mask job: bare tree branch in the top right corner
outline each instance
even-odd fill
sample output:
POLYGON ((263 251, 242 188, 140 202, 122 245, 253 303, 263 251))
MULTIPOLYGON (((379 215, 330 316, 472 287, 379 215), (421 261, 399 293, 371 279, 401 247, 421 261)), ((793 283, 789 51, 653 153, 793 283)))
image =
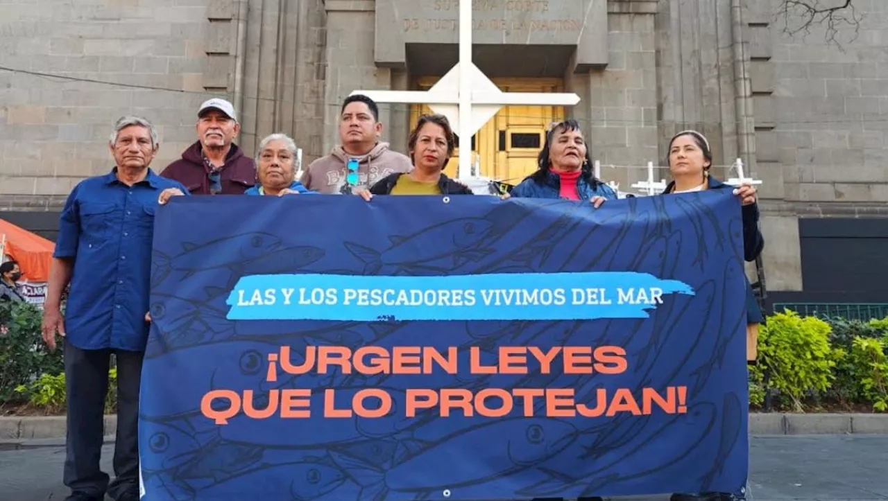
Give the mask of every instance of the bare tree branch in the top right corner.
POLYGON ((853 42, 860 34, 863 19, 863 14, 855 10, 853 0, 830 0, 829 5, 823 5, 822 0, 781 0, 778 15, 783 18, 783 32, 787 35, 804 33, 804 37, 811 33, 811 27, 820 25, 826 30, 827 43, 840 50, 842 46, 836 40, 840 28, 843 25, 853 28, 853 42))

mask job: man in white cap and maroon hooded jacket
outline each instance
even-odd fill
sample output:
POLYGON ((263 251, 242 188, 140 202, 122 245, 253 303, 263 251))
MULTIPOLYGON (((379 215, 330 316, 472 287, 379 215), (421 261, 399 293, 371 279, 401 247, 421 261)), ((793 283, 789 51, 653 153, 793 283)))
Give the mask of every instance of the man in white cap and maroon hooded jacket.
POLYGON ((256 184, 256 163, 233 143, 240 130, 231 103, 204 101, 197 110, 197 142, 161 176, 185 184, 193 195, 243 194, 256 184))

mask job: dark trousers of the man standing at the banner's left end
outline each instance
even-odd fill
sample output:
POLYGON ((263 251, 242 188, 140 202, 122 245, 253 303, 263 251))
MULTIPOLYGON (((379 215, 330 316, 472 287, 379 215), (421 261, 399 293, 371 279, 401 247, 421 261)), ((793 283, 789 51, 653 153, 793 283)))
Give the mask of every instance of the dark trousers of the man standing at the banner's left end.
POLYGON ((80 349, 65 343, 67 447, 65 485, 71 499, 139 496, 139 383, 144 352, 114 351, 117 359, 115 480, 101 471, 105 397, 112 350, 80 349))

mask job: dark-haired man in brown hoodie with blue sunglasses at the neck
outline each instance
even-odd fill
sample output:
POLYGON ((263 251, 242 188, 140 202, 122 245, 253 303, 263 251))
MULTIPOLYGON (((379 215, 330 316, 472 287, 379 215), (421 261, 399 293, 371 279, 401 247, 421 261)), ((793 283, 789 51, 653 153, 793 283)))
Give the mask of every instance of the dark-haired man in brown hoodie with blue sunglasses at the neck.
POLYGON ((379 141, 382 131, 379 107, 373 99, 361 94, 349 96, 339 118, 342 145, 314 160, 300 181, 315 192, 348 193, 354 188, 369 188, 395 172, 409 172, 413 165, 407 155, 392 152, 388 143, 379 141))

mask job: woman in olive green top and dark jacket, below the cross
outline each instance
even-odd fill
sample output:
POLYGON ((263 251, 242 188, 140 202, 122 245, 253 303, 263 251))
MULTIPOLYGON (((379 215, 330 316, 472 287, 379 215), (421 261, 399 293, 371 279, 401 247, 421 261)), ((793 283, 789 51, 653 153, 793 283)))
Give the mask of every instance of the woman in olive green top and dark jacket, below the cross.
POLYGON ((413 170, 385 176, 369 190, 355 190, 369 201, 373 195, 472 195, 472 190, 450 179, 443 172, 456 139, 447 117, 440 114, 423 115, 416 121, 407 142, 413 170))

